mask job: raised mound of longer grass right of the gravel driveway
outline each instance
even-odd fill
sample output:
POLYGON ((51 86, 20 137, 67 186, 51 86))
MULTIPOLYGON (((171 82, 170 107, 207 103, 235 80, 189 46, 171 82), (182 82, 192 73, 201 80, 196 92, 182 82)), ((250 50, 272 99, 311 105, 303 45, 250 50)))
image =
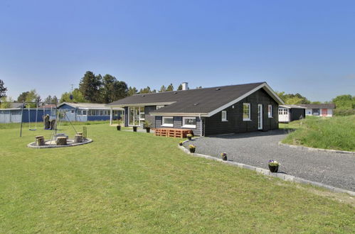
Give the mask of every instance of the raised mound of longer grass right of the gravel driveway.
POLYGON ((297 128, 282 143, 329 150, 355 151, 355 116, 308 117, 280 126, 297 128), (301 124, 302 123, 302 124, 301 124))

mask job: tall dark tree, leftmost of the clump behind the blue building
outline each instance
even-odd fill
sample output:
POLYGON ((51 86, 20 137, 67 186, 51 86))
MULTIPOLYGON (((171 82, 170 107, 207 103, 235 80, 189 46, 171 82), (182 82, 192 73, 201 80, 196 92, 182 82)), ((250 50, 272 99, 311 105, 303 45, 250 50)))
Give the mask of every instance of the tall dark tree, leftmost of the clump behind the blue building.
POLYGON ((100 87, 102 86, 102 76, 95 75, 93 72, 85 72, 84 77, 80 79, 79 90, 85 100, 92 103, 100 103, 100 87))

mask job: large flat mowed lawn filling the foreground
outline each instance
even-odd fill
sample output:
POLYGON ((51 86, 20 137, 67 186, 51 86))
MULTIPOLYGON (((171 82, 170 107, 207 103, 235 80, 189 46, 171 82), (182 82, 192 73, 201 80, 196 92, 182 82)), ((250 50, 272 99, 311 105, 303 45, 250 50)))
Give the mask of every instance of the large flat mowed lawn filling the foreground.
POLYGON ((355 232, 353 205, 191 157, 179 139, 105 124, 88 145, 26 147, 50 134, 0 130, 0 233, 355 232))

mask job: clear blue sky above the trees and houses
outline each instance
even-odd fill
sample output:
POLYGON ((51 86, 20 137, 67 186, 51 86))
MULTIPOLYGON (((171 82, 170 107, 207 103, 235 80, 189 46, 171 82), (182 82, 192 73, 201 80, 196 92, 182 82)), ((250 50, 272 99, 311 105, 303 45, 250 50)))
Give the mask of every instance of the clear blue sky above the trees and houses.
POLYGON ((60 97, 85 71, 129 86, 266 81, 355 95, 355 1, 0 0, 0 79, 60 97))

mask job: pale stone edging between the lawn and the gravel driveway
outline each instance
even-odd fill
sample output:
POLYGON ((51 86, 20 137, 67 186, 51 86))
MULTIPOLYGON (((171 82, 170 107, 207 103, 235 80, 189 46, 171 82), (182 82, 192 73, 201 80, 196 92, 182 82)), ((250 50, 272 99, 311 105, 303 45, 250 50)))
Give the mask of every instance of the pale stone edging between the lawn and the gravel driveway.
MULTIPOLYGON (((188 141, 189 140, 185 140, 184 143, 186 143, 188 141)), ((263 169, 263 168, 260 168, 260 167, 254 167, 254 166, 250 166, 250 165, 245 165, 243 163, 231 162, 231 161, 223 161, 223 160, 221 160, 221 159, 219 159, 217 157, 212 157, 212 156, 209 156, 209 155, 191 153, 188 149, 186 149, 186 147, 184 147, 184 145, 183 146, 178 145, 178 147, 181 150, 183 150, 184 152, 186 152, 188 155, 192 155, 192 156, 195 156, 195 157, 203 157, 203 158, 206 158, 208 160, 214 160, 214 161, 222 162, 222 163, 234 166, 234 167, 250 169, 250 170, 255 171, 255 172, 259 173, 259 174, 263 174, 263 175, 266 175, 266 176, 269 176, 269 177, 277 177, 277 178, 283 179, 283 180, 285 180, 287 182, 295 182, 295 183, 300 183, 300 184, 310 184, 310 185, 322 187, 324 189, 328 189, 330 191, 334 191, 334 192, 337 192, 337 193, 346 193, 346 194, 349 194, 351 196, 355 196, 355 191, 346 190, 346 189, 340 189, 340 188, 337 188, 337 187, 334 187, 334 186, 330 186, 330 185, 327 185, 327 184, 322 184, 322 183, 319 183, 319 182, 312 182, 310 180, 302 179, 300 177, 294 177, 294 176, 292 176, 290 174, 277 173, 277 172, 276 173, 272 173, 268 169, 263 169)))

